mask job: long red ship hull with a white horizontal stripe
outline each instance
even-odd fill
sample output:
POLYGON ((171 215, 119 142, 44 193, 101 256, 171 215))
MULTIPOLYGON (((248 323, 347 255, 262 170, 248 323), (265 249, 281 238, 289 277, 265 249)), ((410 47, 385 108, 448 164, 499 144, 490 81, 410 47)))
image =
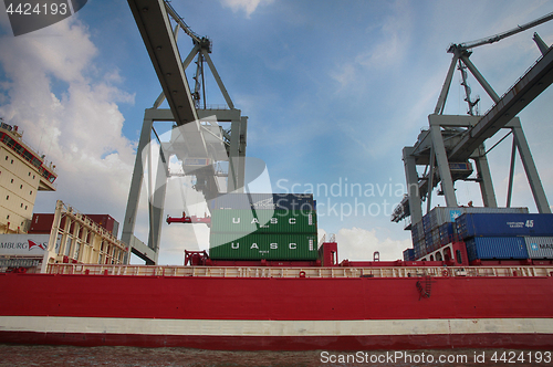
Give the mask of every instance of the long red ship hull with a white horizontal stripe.
POLYGON ((552 276, 0 274, 0 343, 205 349, 551 348, 552 276))

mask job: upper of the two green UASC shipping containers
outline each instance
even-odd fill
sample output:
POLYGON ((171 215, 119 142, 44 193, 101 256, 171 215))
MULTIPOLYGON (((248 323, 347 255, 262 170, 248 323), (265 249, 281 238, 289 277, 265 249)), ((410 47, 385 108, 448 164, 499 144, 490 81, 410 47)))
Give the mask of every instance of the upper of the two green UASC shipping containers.
POLYGON ((231 210, 211 211, 212 232, 242 233, 316 233, 316 212, 300 210, 231 210))

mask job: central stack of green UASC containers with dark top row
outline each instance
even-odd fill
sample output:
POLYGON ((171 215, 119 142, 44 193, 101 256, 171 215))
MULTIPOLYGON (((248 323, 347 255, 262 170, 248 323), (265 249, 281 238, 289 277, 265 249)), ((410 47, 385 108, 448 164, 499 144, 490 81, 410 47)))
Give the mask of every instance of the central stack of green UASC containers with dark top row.
POLYGON ((213 260, 316 260, 313 195, 228 193, 209 202, 213 260))

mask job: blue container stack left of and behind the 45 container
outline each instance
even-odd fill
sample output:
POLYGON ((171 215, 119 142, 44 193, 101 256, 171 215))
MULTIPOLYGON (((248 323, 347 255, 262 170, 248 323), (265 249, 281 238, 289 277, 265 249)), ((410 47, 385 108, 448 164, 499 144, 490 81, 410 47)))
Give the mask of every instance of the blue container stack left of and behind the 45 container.
POLYGON ((524 214, 528 208, 436 207, 411 224, 415 258, 420 259, 458 239, 456 219, 465 213, 524 214))

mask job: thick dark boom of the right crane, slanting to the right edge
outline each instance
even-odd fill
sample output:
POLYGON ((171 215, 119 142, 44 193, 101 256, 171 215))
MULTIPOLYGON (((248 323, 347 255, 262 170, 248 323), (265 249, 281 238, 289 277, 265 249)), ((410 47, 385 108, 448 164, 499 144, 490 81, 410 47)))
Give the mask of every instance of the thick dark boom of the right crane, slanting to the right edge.
POLYGON ((504 127, 518 113, 553 83, 553 52, 550 50, 470 128, 449 154, 450 159, 470 157, 486 139, 504 127))

